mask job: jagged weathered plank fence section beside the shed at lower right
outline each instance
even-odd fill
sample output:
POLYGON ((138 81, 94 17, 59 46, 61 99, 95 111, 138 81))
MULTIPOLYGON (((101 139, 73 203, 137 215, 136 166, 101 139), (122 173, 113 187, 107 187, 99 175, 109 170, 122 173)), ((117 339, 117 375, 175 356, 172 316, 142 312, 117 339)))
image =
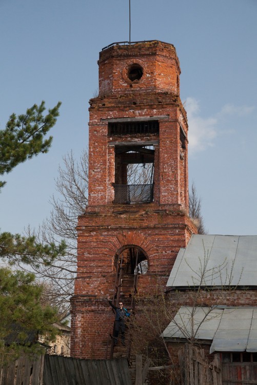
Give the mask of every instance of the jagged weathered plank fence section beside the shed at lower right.
POLYGON ((204 350, 186 344, 179 352, 183 385, 222 385, 222 371, 219 354, 210 362, 204 350))

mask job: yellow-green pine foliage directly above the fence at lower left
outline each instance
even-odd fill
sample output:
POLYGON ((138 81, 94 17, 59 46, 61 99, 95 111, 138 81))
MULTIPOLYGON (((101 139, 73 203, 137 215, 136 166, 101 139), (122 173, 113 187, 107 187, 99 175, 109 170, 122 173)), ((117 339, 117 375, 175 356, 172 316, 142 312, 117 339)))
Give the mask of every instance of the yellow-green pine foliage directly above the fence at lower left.
POLYGON ((55 338, 57 311, 42 305, 42 291, 32 273, 0 268, 0 354, 6 360, 21 353, 42 353, 36 342, 39 335, 45 344, 55 338))

